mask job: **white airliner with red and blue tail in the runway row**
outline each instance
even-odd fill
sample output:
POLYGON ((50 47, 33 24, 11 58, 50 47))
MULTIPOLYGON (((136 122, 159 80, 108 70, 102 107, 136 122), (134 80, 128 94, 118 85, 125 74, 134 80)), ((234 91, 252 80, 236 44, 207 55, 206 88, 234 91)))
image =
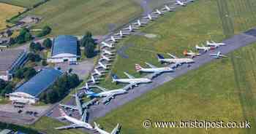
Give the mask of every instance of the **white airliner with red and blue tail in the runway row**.
POLYGON ((173 71, 173 68, 169 67, 162 67, 157 68, 157 66, 151 65, 150 63, 146 63, 150 68, 143 68, 139 64, 135 64, 135 70, 139 73, 146 72, 146 73, 154 73, 153 76, 157 76, 159 74, 162 74, 164 72, 173 71))

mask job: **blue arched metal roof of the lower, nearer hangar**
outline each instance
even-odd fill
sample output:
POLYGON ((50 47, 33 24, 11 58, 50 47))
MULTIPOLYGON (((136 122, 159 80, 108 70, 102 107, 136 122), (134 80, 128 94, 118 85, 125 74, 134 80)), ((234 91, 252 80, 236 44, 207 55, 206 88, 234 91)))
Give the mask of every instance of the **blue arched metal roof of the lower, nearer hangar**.
POLYGON ((37 97, 41 92, 56 81, 63 73, 55 68, 43 68, 36 76, 29 79, 28 82, 20 85, 15 92, 24 92, 37 97))

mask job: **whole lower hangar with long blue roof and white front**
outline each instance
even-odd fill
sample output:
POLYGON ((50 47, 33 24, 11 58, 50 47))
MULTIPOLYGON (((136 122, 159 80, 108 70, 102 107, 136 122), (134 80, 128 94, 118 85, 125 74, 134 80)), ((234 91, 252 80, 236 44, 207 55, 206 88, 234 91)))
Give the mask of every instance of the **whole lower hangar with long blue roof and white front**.
POLYGON ((62 74, 62 71, 55 68, 43 68, 28 82, 17 87, 15 92, 10 93, 10 101, 12 103, 37 103, 39 95, 56 82, 62 74))

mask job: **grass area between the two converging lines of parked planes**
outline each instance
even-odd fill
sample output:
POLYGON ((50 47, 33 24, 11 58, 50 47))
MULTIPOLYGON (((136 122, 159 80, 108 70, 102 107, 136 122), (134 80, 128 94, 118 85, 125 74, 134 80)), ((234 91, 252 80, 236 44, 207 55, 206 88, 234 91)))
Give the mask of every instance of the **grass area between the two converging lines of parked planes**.
MULTIPOLYGON (((250 0, 255 1, 255 0, 250 0)), ((140 31, 142 33, 153 33, 157 38, 148 39, 145 36, 132 36, 124 39, 118 44, 118 48, 130 46, 125 50, 129 58, 117 56, 113 63, 112 72, 118 76, 125 77, 123 72, 127 71, 134 76, 140 76, 135 72, 135 63, 145 66, 144 62, 161 66, 158 63, 156 54, 170 52, 178 57, 183 57, 184 50, 195 51, 195 45, 205 43, 206 40, 213 39, 222 41, 226 37, 232 36, 241 31, 246 31, 256 25, 255 10, 249 10, 249 7, 238 7, 239 4, 245 4, 244 1, 232 0, 227 2, 227 8, 230 13, 232 25, 226 23, 222 15, 226 16, 226 11, 219 7, 218 1, 196 1, 187 7, 178 9, 176 12, 170 12, 165 17, 150 23, 140 31), (202 13, 203 12, 203 13, 202 13), (230 28, 227 29, 226 25, 230 28), (126 65, 126 66, 123 66, 126 65)), ((168 57, 168 55, 165 55, 168 57)), ((110 76, 101 82, 106 87, 116 87, 111 82, 110 76)))

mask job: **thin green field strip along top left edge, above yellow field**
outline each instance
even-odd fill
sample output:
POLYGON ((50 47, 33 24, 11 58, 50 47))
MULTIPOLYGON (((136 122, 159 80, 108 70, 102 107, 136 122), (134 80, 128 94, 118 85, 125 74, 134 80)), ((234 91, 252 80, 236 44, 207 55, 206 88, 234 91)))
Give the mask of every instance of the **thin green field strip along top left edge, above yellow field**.
POLYGON ((12 4, 20 7, 32 7, 34 4, 37 4, 42 0, 0 0, 7 4, 12 4))

